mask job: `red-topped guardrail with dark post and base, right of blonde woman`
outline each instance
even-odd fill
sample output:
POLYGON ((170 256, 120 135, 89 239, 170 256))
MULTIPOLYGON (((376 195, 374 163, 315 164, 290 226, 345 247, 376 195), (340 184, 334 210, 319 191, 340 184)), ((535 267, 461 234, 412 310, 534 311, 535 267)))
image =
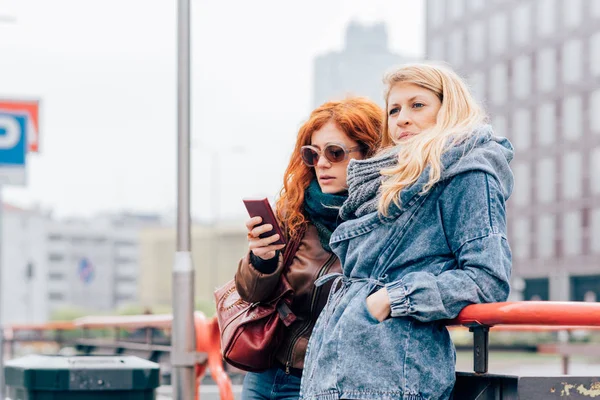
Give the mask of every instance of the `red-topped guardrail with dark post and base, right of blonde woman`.
MULTIPOLYGON (((473 332, 475 372, 457 372, 455 398, 546 400, 600 396, 600 377, 597 376, 521 377, 488 373, 490 329, 535 329, 536 331, 598 329, 600 303, 522 301, 476 304, 465 307, 456 319, 448 322, 448 325, 461 325, 473 332)), ((574 348, 564 346, 550 350, 562 352, 563 370, 566 370, 568 358, 565 357, 570 354, 569 351, 574 351, 574 348)))

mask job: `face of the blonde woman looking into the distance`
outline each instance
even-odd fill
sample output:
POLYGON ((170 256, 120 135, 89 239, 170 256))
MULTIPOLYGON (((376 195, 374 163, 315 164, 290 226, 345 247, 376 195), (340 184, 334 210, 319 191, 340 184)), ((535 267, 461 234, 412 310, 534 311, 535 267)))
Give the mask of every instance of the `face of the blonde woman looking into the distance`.
POLYGON ((397 83, 388 96, 388 126, 394 142, 435 126, 442 107, 438 96, 429 89, 413 83, 397 83))

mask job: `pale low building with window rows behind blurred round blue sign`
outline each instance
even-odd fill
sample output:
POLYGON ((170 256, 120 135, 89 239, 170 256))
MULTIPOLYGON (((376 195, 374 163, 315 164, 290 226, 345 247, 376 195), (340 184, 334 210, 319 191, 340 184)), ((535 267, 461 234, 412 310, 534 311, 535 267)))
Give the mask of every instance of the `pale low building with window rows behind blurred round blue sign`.
POLYGON ((111 311, 138 300, 138 231, 109 221, 47 222, 50 313, 111 311))

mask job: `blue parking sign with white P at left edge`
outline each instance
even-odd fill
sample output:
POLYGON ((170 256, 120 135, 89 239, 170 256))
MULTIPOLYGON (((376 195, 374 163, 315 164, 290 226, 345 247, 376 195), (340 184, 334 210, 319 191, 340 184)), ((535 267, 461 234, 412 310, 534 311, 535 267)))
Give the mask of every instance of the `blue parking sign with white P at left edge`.
POLYGON ((0 111, 0 185, 25 185, 26 115, 0 111))

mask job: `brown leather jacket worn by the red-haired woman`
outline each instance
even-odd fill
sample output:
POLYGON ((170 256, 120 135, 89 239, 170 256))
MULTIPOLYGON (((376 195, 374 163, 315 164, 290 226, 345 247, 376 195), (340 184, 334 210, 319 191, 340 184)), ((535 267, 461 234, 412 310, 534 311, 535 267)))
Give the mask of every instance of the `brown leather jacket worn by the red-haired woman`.
POLYGON ((315 281, 331 272, 341 272, 341 269, 339 259, 321 246, 317 229, 310 224, 292 263, 285 271, 281 255, 277 269, 272 274, 256 270, 250 263, 250 254, 240 261, 235 286, 244 300, 254 303, 267 299, 277 286, 281 273, 285 274, 294 289, 291 308, 298 319, 286 328, 287 334, 276 354, 277 360, 286 368, 304 367, 308 338, 327 302, 331 282, 316 287, 315 281))

